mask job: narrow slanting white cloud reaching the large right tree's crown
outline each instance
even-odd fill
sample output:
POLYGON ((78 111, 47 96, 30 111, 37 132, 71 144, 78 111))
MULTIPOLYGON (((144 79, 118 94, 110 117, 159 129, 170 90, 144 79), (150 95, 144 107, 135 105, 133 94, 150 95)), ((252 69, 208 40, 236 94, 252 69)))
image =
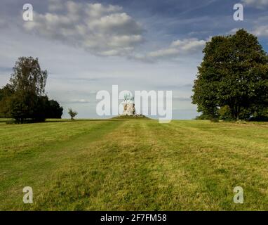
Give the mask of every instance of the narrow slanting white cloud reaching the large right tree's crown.
POLYGON ((139 60, 154 61, 159 59, 178 58, 180 56, 189 56, 201 52, 208 40, 199 40, 197 38, 178 39, 173 41, 166 49, 150 51, 146 55, 135 56, 139 60))

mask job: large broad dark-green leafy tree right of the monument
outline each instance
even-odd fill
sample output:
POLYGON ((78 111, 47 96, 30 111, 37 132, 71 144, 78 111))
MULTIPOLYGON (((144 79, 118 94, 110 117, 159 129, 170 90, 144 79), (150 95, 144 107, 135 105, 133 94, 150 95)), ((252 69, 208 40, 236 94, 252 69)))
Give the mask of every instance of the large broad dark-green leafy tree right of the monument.
POLYGON ((203 53, 192 96, 199 112, 215 118, 227 105, 239 120, 253 117, 256 105, 267 108, 268 56, 257 37, 245 30, 213 37, 203 53))

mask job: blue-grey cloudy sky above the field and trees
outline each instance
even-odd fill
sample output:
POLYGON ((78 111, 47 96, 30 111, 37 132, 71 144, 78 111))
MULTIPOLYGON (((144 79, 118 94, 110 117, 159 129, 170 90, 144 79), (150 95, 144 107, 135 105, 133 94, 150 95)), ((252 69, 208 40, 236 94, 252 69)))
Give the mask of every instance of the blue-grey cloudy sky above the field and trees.
POLYGON ((46 94, 79 118, 98 118, 96 93, 173 91, 173 119, 199 115, 192 86, 202 49, 241 28, 268 51, 268 0, 1 0, 0 87, 21 56, 48 70, 46 94), (22 18, 32 4, 33 21, 22 18), (234 4, 243 5, 235 21, 234 4))

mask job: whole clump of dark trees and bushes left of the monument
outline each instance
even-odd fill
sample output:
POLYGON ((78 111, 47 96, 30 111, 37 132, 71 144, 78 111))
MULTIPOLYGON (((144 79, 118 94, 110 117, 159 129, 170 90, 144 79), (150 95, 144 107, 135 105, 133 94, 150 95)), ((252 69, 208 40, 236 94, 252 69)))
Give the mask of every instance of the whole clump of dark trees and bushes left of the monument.
POLYGON ((61 118, 63 108, 45 94, 46 79, 47 71, 41 70, 38 58, 19 58, 10 83, 0 89, 0 117, 21 123, 61 118))

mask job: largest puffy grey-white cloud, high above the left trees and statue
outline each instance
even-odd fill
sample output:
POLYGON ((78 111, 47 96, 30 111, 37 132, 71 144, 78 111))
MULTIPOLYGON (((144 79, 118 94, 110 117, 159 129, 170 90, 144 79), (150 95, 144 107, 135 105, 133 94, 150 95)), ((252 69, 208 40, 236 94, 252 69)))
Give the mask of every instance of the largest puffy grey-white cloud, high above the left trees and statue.
POLYGON ((34 12, 24 29, 98 56, 127 56, 144 41, 142 25, 120 6, 74 1, 50 0, 48 12, 34 12))

